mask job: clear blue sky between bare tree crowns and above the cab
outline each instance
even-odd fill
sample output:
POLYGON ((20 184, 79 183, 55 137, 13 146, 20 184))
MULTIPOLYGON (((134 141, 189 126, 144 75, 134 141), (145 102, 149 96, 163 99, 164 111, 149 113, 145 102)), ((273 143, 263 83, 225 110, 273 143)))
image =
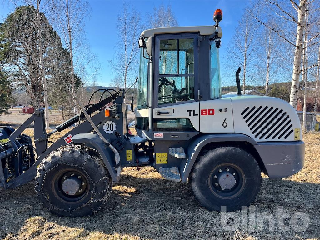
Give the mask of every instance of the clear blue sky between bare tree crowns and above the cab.
MULTIPOLYGON (((212 15, 215 9, 223 11, 223 20, 220 22, 223 37, 220 48, 220 58, 225 55, 228 42, 234 33, 238 20, 243 14, 244 7, 248 1, 226 0, 226 1, 130 1, 131 4, 143 15, 152 12, 153 7, 171 4, 172 10, 178 20, 179 26, 213 25, 212 15)), ((108 86, 113 78, 112 70, 108 60, 114 57, 116 44, 116 19, 121 11, 123 1, 89 0, 92 8, 91 18, 86 24, 86 38, 102 65, 101 76, 98 84, 108 86)), ((13 4, 0 5, 0 20, 2 21, 8 13, 14 10, 13 4)), ((143 20, 147 21, 146 17, 143 20)), ((138 45, 138 44, 137 44, 138 45)), ((221 61, 221 59, 220 59, 221 61)), ((221 76, 224 72, 221 68, 221 76)))

